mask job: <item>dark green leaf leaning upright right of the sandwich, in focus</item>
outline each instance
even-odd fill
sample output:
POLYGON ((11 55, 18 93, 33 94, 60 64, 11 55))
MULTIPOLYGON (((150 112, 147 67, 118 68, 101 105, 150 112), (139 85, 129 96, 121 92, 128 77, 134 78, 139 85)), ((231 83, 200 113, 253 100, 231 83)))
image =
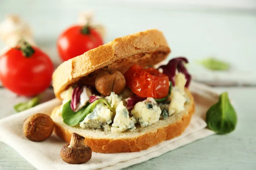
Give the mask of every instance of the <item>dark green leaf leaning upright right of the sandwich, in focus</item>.
POLYGON ((230 104, 227 92, 220 95, 219 101, 209 108, 206 115, 209 129, 216 133, 230 133, 236 128, 236 111, 230 104))

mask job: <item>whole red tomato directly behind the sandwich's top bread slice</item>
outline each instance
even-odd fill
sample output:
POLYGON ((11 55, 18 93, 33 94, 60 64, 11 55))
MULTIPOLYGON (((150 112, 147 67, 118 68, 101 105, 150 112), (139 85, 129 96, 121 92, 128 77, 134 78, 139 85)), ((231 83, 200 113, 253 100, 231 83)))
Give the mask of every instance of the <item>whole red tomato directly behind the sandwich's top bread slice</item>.
POLYGON ((100 34, 95 29, 73 26, 58 37, 58 53, 63 61, 84 54, 84 52, 103 45, 100 34))

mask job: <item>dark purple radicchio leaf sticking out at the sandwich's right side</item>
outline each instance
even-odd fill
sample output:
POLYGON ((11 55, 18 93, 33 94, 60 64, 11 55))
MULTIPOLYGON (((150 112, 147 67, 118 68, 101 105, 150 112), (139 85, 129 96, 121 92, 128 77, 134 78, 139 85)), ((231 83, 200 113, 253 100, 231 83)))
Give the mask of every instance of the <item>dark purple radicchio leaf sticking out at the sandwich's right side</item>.
POLYGON ((172 81, 172 85, 175 86, 175 74, 176 69, 178 72, 183 73, 186 77, 186 85, 185 87, 189 87, 190 81, 191 81, 191 75, 186 70, 186 67, 183 65, 183 63, 188 63, 188 60, 185 57, 177 57, 174 59, 171 59, 167 65, 161 65, 159 68, 163 69, 163 74, 166 74, 169 77, 169 80, 172 81))

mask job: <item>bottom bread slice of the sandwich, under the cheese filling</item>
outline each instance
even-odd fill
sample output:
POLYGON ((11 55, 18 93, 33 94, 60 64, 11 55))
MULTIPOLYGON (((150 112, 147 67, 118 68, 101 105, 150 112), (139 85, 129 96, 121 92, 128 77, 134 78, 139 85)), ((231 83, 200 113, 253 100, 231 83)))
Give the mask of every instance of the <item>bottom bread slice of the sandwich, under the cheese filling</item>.
POLYGON ((138 125, 135 132, 112 133, 100 129, 82 129, 79 126, 70 127, 64 124, 61 115, 56 113, 58 107, 51 114, 51 118, 55 122, 54 131, 67 143, 70 143, 72 133, 84 136, 84 144, 90 146, 93 152, 121 153, 145 150, 160 142, 180 136, 189 125, 195 112, 195 104, 190 91, 188 89, 185 90, 186 98, 189 101, 185 103, 185 111, 173 114, 168 119, 161 119, 147 127, 138 125))

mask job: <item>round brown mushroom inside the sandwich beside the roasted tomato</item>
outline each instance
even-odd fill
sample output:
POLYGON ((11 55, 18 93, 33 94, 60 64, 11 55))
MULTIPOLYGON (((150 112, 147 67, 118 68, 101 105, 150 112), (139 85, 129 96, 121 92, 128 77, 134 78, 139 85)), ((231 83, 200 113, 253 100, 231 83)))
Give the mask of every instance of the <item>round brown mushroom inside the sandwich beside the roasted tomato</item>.
POLYGON ((95 80, 97 91, 104 96, 109 96, 111 92, 121 94, 125 89, 125 77, 120 71, 102 71, 95 80))

